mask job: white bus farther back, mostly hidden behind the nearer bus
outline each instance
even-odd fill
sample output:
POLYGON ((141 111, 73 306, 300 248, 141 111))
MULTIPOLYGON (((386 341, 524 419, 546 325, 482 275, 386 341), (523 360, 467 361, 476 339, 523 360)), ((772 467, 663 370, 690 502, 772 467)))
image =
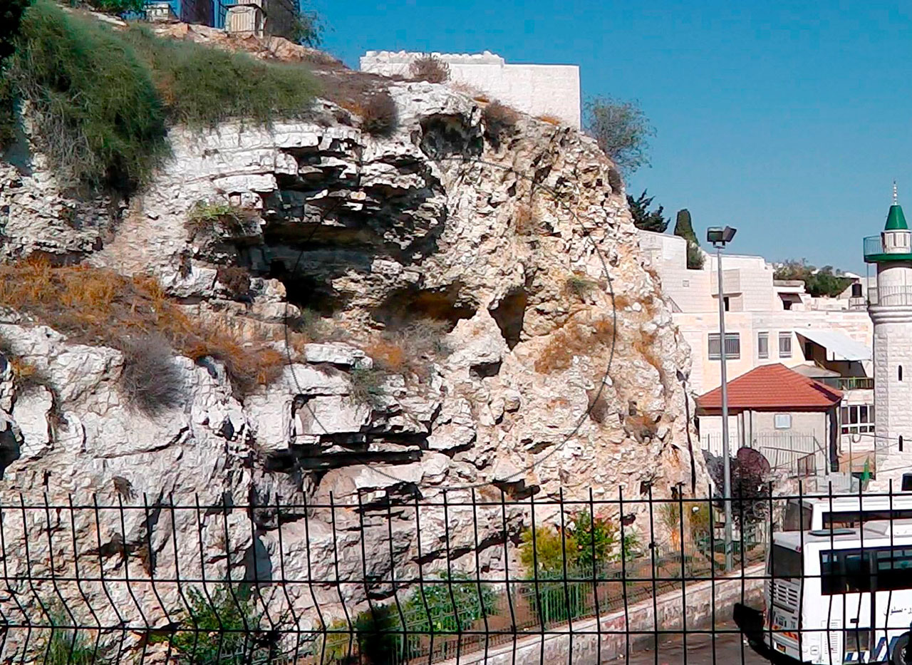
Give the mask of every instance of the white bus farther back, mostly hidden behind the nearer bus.
POLYGON ((889 519, 912 519, 912 494, 793 497, 785 504, 782 531, 853 528, 889 519))

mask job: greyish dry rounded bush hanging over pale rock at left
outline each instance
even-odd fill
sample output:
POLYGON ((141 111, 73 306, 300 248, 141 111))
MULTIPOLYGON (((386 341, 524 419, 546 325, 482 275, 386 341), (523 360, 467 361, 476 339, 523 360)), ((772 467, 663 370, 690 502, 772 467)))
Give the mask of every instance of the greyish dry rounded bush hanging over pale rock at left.
POLYGON ((122 343, 120 383, 130 401, 151 416, 175 409, 186 400, 181 370, 174 364, 171 345, 160 335, 126 339, 122 343))

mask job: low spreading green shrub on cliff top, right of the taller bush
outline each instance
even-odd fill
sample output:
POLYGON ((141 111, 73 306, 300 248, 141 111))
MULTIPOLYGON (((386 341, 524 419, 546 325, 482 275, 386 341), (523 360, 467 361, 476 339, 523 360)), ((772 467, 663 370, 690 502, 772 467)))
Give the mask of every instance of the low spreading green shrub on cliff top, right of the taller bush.
POLYGON ((171 119, 192 127, 232 118, 262 124, 300 118, 316 94, 315 78, 300 64, 163 39, 140 26, 131 26, 124 39, 151 68, 171 119))

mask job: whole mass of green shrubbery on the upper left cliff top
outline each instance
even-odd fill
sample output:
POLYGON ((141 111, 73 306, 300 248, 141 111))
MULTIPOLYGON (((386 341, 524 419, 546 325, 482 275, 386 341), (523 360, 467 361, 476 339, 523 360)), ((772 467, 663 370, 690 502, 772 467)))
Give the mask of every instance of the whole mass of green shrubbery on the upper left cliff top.
MULTIPOLYGON (((117 30, 37 0, 22 16, 0 98, 26 99, 61 182, 129 193, 168 154, 168 122, 268 123, 305 114, 316 82, 300 65, 117 30)), ((9 106, 7 104, 6 106, 9 106)))

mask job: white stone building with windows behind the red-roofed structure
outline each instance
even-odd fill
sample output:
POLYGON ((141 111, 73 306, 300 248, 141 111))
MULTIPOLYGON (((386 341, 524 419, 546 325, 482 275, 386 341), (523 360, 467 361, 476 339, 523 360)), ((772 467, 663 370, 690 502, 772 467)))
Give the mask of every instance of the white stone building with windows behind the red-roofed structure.
MULTIPOLYGON (((873 326, 865 308, 856 307, 849 298, 809 296, 800 281, 773 279, 773 266, 762 256, 723 255, 720 289, 714 254, 705 254, 703 267, 691 270, 687 267, 687 241, 684 238, 647 231, 638 233, 643 255, 658 273, 662 291, 671 302, 672 316, 691 348, 693 366, 689 389, 699 395, 721 383, 721 290, 726 309, 725 350, 729 380, 762 365, 781 363, 842 390, 837 454, 846 462, 860 459, 857 463, 863 463, 864 456, 859 458, 855 453, 874 448, 876 413, 873 390, 876 379, 873 378, 871 351, 873 326), (849 308, 850 302, 852 308, 849 308)), ((909 284, 912 285, 912 279, 909 284)), ((716 425, 704 426, 707 424, 701 423, 701 441, 719 438, 716 425)), ((730 428, 738 431, 738 423, 731 420, 730 428)), ((783 436, 802 434, 798 429, 800 421, 780 428, 783 436)), ((912 436, 912 429, 909 436, 912 436)))

